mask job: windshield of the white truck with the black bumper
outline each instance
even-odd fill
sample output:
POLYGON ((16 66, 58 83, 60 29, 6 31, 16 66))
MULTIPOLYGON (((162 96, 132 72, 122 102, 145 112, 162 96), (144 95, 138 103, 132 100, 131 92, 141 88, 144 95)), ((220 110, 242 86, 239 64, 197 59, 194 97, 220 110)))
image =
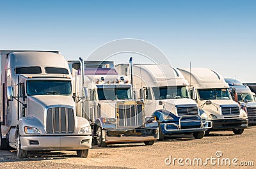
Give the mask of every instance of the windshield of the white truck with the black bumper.
POLYGON ((198 89, 199 99, 231 99, 228 89, 198 89))

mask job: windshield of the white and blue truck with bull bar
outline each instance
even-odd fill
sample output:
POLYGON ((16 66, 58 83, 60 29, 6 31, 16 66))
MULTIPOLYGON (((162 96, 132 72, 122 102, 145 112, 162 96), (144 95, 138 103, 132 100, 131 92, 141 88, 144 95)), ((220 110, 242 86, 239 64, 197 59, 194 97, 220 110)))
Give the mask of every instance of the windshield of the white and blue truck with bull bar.
POLYGON ((189 98, 188 90, 185 86, 178 87, 152 87, 155 99, 179 99, 189 98))

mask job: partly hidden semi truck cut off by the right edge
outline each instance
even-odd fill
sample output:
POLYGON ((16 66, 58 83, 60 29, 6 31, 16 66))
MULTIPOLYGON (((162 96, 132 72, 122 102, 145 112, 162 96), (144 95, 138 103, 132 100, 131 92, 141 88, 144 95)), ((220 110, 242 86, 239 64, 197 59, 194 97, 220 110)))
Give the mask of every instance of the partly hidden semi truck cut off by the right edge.
POLYGON ((248 115, 249 125, 256 125, 256 99, 255 93, 247 85, 234 78, 225 78, 230 87, 230 94, 234 101, 238 102, 248 115))

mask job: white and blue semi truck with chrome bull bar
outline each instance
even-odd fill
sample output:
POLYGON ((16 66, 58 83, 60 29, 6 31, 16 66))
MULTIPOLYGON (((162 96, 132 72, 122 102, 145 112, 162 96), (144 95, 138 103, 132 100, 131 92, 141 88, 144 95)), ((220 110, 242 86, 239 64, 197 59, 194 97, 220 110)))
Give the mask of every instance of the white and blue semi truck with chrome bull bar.
POLYGON ((176 68, 165 64, 117 64, 123 75, 133 74, 138 98, 145 101, 145 114, 156 117, 159 140, 168 135, 193 133, 197 139, 211 128, 204 111, 189 98, 188 81, 176 68))

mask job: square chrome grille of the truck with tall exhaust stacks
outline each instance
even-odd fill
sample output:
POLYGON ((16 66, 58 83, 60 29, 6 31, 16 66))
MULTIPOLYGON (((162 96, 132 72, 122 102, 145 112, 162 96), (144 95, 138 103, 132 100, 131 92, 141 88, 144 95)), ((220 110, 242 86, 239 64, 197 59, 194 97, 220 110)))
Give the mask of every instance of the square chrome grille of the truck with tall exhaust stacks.
POLYGON ((138 128, 145 122, 143 104, 118 104, 117 128, 138 128))

